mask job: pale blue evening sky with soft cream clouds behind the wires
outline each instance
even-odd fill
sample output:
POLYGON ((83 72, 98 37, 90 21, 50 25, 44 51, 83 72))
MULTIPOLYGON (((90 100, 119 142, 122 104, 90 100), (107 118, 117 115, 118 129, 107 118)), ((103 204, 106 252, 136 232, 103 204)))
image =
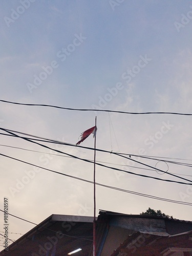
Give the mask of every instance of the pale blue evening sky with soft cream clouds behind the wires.
MULTIPOLYGON (((191 185, 164 181, 191 184, 191 116, 93 111, 192 113, 191 1, 2 0, 0 14, 0 100, 92 110, 0 101, 0 127, 75 145, 97 116, 96 148, 109 153, 96 161, 120 170, 96 165, 96 182, 192 203, 191 185)), ((93 150, 42 142, 49 150, 1 133, 0 209, 7 198, 10 214, 36 224, 52 214, 93 216, 93 184, 6 157, 93 181, 93 163, 54 151, 93 161, 93 150)), ((93 148, 93 136, 80 145, 93 148)), ((96 186, 96 215, 148 207, 192 221, 191 205, 96 186)), ((8 222, 13 241, 34 227, 8 222)))

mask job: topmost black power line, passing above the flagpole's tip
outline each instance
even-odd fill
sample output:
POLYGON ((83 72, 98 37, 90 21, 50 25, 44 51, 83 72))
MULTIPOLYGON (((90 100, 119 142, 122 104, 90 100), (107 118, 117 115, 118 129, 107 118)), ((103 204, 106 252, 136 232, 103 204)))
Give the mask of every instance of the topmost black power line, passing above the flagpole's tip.
POLYGON ((7 100, 0 100, 5 103, 25 105, 25 106, 49 106, 50 108, 63 109, 63 110, 73 110, 73 111, 98 111, 98 112, 112 112, 112 113, 121 113, 121 114, 132 114, 132 115, 143 115, 143 114, 172 114, 172 115, 184 115, 192 116, 192 114, 187 113, 177 113, 177 112, 124 112, 124 111, 113 111, 113 110, 98 110, 98 109, 73 109, 73 108, 63 108, 61 106, 48 105, 48 104, 29 104, 29 103, 18 103, 7 100))

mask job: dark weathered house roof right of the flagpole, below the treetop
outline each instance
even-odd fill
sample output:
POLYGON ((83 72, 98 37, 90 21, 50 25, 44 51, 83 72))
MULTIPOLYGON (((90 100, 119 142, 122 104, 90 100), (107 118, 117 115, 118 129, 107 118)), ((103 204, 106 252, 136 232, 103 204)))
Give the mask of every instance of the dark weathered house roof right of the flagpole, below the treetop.
POLYGON ((108 235, 100 249, 101 256, 156 256, 192 252, 190 221, 152 215, 125 215, 103 210, 99 214, 98 222, 109 224, 108 235))

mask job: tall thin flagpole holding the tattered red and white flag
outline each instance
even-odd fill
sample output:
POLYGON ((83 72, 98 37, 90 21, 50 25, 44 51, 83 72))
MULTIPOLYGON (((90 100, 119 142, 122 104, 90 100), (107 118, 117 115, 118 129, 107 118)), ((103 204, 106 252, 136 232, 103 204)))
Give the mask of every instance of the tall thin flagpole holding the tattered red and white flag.
MULTIPOLYGON (((95 117, 95 129, 97 129, 97 117, 95 117)), ((95 132, 95 146, 94 146, 94 219, 93 219, 93 256, 96 256, 96 196, 95 196, 95 158, 96 158, 96 132, 95 132)))

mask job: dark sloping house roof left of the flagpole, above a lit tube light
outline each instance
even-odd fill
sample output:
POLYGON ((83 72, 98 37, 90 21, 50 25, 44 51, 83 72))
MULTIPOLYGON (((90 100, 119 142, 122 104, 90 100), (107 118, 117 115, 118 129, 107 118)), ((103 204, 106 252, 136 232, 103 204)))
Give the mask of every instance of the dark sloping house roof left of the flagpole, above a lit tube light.
POLYGON ((93 217, 51 215, 36 227, 16 240, 0 255, 27 256, 45 255, 46 250, 54 251, 56 255, 67 255, 81 247, 79 256, 88 255, 93 244, 93 217), (86 254, 84 254, 86 253, 86 254))

